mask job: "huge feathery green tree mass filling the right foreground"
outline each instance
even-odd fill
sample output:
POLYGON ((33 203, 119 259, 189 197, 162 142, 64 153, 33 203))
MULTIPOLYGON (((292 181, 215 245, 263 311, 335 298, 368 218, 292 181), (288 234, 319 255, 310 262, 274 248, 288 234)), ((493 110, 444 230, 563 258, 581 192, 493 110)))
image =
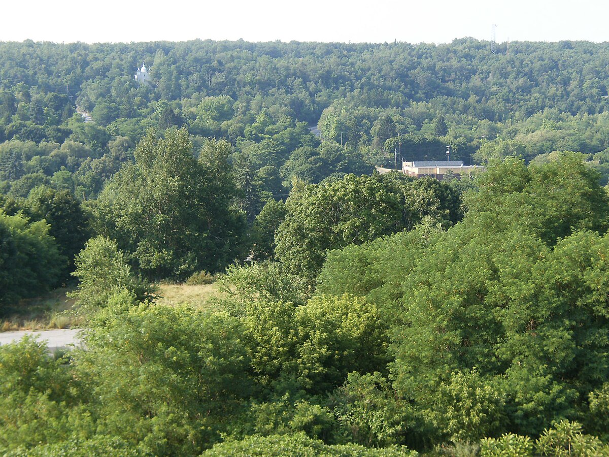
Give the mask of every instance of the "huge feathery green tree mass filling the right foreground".
POLYGON ((502 427, 541 433, 608 372, 609 202, 574 154, 507 159, 478 182, 462 224, 404 272, 395 386, 433 410, 438 383, 476 368, 505 394, 502 427))

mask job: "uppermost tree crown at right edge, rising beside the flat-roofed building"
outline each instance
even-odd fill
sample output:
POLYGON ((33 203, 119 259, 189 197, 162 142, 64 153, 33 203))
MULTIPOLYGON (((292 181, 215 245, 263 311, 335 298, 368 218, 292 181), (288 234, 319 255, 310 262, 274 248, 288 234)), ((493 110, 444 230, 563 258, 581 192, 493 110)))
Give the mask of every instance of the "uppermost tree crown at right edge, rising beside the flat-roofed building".
POLYGON ((508 157, 491 165, 466 194, 471 218, 495 218, 498 227, 526 230, 548 244, 583 228, 609 228, 609 196, 582 154, 559 152, 529 166, 508 157))

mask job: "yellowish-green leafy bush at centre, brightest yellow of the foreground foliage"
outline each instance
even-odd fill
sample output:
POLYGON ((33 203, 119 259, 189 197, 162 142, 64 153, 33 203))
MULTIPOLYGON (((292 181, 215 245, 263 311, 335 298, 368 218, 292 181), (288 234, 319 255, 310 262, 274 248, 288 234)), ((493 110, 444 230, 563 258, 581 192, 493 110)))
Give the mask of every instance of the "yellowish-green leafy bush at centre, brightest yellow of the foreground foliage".
POLYGON ((376 306, 361 297, 314 297, 301 306, 254 302, 243 322, 252 367, 265 388, 283 384, 287 391, 322 394, 350 372, 383 372, 389 361, 387 328, 376 306))

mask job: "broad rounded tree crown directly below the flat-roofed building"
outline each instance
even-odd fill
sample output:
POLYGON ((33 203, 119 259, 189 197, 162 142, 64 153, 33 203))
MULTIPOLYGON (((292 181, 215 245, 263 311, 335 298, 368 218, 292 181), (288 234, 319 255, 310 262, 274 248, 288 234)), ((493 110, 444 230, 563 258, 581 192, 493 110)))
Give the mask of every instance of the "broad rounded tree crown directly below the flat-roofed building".
POLYGON ((295 188, 276 232, 276 255, 313 280, 326 252, 413 228, 429 215, 447 227, 460 218, 459 195, 436 180, 347 175, 295 188))

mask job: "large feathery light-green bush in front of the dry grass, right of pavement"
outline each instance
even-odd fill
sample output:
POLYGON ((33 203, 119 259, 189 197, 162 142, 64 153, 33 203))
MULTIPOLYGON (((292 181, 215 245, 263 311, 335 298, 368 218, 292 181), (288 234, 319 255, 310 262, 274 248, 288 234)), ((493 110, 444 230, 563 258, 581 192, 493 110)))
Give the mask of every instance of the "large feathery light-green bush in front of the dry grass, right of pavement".
POLYGON ((154 455, 194 455, 220 441, 252 394, 242 334, 224 313, 147 304, 90 328, 78 367, 97 434, 154 455))

